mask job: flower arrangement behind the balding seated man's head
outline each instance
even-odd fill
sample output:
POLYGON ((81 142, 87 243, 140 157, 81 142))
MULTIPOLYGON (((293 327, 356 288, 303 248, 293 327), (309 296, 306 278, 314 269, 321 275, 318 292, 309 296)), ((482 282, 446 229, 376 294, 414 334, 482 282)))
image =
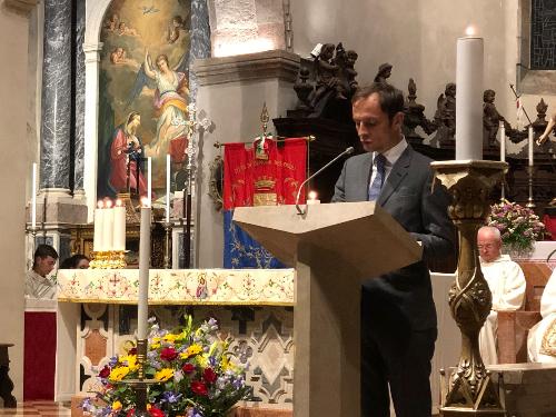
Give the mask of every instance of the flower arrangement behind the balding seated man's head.
POLYGON ((543 237, 545 225, 535 212, 516 202, 503 201, 490 207, 488 226, 500 231, 504 250, 520 257, 533 250, 535 240, 543 237))

